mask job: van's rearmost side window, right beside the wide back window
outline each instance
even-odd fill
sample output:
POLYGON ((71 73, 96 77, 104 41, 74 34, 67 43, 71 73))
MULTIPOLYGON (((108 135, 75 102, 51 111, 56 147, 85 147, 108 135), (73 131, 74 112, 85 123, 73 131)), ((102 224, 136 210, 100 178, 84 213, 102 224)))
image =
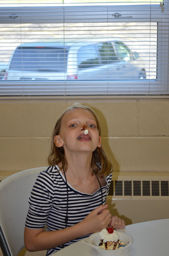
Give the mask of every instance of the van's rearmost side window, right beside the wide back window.
POLYGON ((78 69, 92 68, 100 64, 98 54, 93 45, 81 47, 77 54, 78 69))

